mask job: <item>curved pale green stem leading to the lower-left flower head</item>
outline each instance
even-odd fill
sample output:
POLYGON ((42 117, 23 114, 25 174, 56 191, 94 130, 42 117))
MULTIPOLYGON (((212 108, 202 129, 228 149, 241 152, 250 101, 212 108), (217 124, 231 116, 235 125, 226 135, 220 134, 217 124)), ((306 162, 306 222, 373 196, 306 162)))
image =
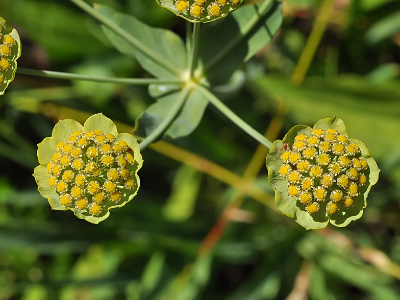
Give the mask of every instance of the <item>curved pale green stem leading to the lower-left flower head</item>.
POLYGON ((178 113, 181 111, 182 106, 184 105, 186 98, 189 94, 190 88, 185 85, 182 89, 181 94, 177 98, 177 101, 170 108, 168 114, 165 119, 157 126, 157 128, 149 134, 140 144, 140 150, 146 148, 149 144, 153 143, 172 123, 172 121, 176 118, 178 113))

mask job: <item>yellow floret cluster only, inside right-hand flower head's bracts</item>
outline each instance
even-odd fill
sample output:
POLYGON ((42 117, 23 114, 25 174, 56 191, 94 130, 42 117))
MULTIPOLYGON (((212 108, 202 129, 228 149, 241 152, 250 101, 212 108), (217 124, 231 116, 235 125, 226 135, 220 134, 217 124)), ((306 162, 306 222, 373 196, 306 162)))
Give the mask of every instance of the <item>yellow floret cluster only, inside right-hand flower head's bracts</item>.
POLYGON ((319 211, 319 202, 335 214, 354 205, 359 187, 367 183, 366 160, 357 144, 335 129, 313 129, 311 135, 298 134, 290 150, 281 155, 281 177, 288 179, 288 195, 305 205, 308 213, 319 211))

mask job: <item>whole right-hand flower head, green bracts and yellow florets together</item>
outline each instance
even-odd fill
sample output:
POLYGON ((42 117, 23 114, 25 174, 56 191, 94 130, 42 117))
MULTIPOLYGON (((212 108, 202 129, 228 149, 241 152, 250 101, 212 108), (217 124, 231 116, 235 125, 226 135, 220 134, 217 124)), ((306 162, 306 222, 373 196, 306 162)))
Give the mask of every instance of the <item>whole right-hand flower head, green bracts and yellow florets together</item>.
POLYGON ((359 219, 380 172, 368 148, 348 138, 336 117, 290 129, 273 142, 266 165, 277 208, 306 229, 359 219))

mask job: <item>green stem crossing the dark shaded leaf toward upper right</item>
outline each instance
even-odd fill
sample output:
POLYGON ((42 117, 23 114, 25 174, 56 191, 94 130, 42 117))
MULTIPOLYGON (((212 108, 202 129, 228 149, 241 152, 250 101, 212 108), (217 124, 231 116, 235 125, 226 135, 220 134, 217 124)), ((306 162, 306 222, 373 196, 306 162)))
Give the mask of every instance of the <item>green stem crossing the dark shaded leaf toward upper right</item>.
MULTIPOLYGON (((257 22, 264 17, 265 13, 269 10, 271 2, 274 0, 266 0, 257 10, 257 14, 255 14, 251 19, 248 20, 247 24, 238 32, 238 34, 231 39, 231 41, 223 48, 220 52, 218 52, 204 67, 204 72, 207 72, 211 68, 213 68, 221 59, 223 59, 235 46, 246 37, 246 35, 256 26, 257 22)), ((257 9, 256 6, 254 6, 257 9)))

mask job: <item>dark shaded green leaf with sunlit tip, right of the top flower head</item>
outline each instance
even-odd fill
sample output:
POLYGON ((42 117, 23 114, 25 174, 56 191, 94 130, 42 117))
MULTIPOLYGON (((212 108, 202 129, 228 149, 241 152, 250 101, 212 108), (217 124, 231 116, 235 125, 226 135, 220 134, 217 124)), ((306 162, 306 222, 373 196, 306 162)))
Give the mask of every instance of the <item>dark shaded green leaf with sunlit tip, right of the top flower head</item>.
POLYGON ((282 4, 266 0, 242 6, 220 22, 200 32, 199 55, 212 85, 226 84, 233 72, 253 57, 277 33, 282 24, 282 4))

